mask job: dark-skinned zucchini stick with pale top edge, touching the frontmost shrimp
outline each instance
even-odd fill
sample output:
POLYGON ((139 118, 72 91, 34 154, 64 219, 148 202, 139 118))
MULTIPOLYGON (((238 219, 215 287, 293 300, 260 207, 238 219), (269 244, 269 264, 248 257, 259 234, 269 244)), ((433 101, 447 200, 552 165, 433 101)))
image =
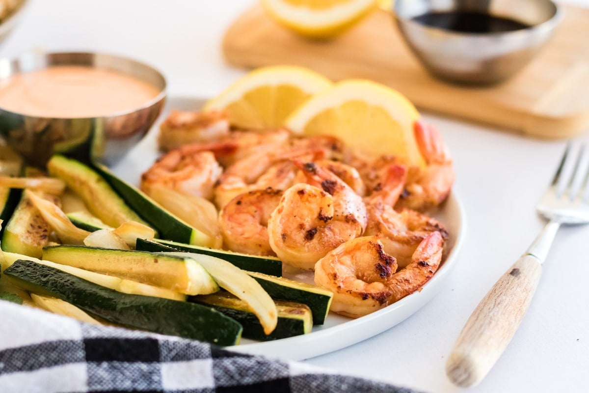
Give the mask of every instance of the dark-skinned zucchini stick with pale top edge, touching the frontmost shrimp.
POLYGON ((315 325, 323 325, 325 322, 333 297, 333 293, 329 290, 316 285, 262 273, 249 272, 249 275, 262 285, 262 288, 268 292, 272 299, 306 304, 313 313, 313 323, 315 325))

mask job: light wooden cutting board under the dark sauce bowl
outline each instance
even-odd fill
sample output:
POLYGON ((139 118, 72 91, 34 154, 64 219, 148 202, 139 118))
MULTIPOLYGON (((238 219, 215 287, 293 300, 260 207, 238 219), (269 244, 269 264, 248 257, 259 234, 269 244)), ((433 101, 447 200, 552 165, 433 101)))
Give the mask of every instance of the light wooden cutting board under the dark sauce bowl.
POLYGON ((562 24, 540 54, 494 87, 460 87, 431 77, 405 46, 391 15, 380 10, 332 41, 313 42, 254 6, 229 28, 223 52, 238 67, 297 64, 332 80, 368 78, 401 91, 421 110, 567 138, 589 131, 589 9, 562 8, 562 24))

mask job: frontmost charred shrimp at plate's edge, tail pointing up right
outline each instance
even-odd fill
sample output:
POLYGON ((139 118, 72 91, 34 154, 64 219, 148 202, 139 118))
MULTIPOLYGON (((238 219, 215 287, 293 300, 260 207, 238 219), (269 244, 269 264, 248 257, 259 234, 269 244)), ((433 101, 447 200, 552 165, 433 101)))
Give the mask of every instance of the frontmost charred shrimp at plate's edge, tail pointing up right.
POLYGON ((431 233, 397 272, 398 258, 385 252, 378 236, 358 237, 317 261, 315 283, 333 292, 331 311, 357 318, 421 288, 438 269, 443 242, 431 233))

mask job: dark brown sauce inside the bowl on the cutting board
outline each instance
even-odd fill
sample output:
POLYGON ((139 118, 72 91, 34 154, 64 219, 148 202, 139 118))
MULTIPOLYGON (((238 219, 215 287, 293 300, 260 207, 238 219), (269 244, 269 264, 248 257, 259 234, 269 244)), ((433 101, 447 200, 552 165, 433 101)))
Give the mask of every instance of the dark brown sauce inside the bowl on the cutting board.
POLYGON ((415 16, 413 21, 461 33, 499 33, 530 27, 514 19, 468 11, 428 12, 415 16))

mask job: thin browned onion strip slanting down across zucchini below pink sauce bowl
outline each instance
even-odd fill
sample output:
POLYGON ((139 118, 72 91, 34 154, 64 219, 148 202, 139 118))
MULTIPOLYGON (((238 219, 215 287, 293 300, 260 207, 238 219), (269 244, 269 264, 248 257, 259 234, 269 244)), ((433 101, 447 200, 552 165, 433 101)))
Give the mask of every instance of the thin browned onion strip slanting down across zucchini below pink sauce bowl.
POLYGON ((25 197, 31 201, 33 206, 37 207, 43 219, 57 233, 57 237, 62 243, 70 245, 84 244, 84 239, 90 235, 90 232, 72 224, 65 213, 54 203, 42 199, 31 190, 25 190, 25 197))

